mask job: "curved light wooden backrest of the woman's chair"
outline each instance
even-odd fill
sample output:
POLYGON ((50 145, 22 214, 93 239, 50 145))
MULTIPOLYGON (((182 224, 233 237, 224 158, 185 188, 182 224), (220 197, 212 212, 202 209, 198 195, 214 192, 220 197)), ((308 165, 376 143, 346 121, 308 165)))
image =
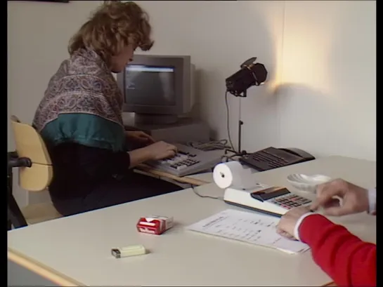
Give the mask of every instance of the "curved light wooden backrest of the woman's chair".
POLYGON ((17 116, 11 116, 11 124, 18 156, 32 161, 30 168, 19 168, 19 185, 30 192, 42 191, 53 178, 51 157, 44 140, 32 126, 21 123, 17 116))

